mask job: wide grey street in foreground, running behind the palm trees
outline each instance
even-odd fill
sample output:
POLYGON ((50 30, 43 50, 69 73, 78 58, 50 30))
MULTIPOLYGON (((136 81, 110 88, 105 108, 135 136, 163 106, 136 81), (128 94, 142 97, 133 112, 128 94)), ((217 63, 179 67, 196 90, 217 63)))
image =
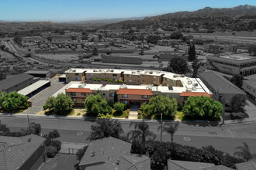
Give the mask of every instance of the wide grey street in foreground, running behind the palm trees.
MULTIPOLYGON (((13 131, 19 131, 20 128, 26 128, 28 125, 27 117, 0 117, 3 124, 7 124, 13 131)), ((40 123, 42 133, 47 133, 57 129, 61 134, 61 141, 88 143, 86 138, 90 133, 90 127, 93 122, 83 121, 81 119, 67 119, 55 117, 29 117, 30 122, 40 123)), ((127 134, 133 127, 130 127, 130 121, 122 121, 123 130, 127 134)), ((160 131, 157 131, 159 123, 149 123, 150 131, 157 134, 157 140, 160 139, 160 131)), ((213 147, 233 154, 235 148, 241 143, 247 142, 252 152, 256 152, 256 123, 232 124, 223 127, 200 127, 198 125, 181 124, 175 134, 174 141, 182 145, 192 145, 202 147, 213 145, 213 147)), ((170 135, 163 133, 163 141, 170 141, 170 135)))

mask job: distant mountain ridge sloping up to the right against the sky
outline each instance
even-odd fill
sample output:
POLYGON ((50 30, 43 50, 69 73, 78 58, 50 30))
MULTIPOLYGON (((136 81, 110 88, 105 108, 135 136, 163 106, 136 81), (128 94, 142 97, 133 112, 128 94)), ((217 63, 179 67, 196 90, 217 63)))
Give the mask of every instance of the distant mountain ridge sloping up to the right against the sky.
MULTIPOLYGON (((223 19, 223 22, 236 19, 256 19, 256 6, 239 5, 234 8, 202 8, 194 12, 174 12, 164 15, 146 17, 142 20, 128 20, 103 26, 103 29, 129 29, 130 27, 144 28, 145 26, 155 26, 168 28, 175 23, 194 22, 202 24, 202 21, 211 22, 211 20, 223 19)), ((218 20, 220 21, 220 20, 218 20)), ((229 21, 230 23, 230 21, 229 21)), ((183 23, 186 24, 186 23, 183 23)))

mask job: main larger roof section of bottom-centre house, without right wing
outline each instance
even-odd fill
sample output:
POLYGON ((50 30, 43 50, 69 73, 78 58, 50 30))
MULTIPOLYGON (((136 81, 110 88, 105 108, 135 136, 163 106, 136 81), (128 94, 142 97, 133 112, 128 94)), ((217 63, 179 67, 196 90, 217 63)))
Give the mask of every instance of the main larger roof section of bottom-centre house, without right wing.
POLYGON ((122 155, 130 155, 131 144, 116 138, 102 138, 92 141, 79 166, 88 169, 115 169, 122 155))

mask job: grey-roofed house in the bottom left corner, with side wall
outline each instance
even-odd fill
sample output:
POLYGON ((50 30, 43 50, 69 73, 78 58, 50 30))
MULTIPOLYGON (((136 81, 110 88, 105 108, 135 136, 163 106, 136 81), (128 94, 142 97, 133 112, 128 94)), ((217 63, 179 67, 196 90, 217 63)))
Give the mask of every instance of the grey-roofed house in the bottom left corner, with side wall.
POLYGON ((46 139, 35 134, 0 136, 1 170, 36 170, 47 161, 46 139))

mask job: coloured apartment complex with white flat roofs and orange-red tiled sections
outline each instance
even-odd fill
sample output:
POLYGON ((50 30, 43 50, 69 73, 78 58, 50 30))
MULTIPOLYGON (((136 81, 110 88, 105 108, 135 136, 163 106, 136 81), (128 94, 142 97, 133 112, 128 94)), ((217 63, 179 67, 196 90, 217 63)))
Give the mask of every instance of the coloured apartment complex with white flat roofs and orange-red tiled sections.
MULTIPOLYGON (((75 70, 75 69, 74 69, 75 70)), ((75 74, 73 71, 69 71, 75 74)), ((142 104, 150 97, 164 95, 174 97, 183 105, 190 96, 211 97, 212 93, 199 78, 190 78, 170 72, 156 70, 84 70, 85 81, 74 81, 65 89, 74 104, 83 105, 90 94, 100 93, 108 102, 113 103, 115 95, 125 104, 142 104), (115 75, 113 75, 115 74, 115 75), (107 78, 106 78, 107 77, 107 78), (115 84, 92 83, 94 79, 123 80, 115 84)), ((70 76, 71 74, 66 74, 70 76)), ((74 77, 74 76, 72 76, 74 77)))

